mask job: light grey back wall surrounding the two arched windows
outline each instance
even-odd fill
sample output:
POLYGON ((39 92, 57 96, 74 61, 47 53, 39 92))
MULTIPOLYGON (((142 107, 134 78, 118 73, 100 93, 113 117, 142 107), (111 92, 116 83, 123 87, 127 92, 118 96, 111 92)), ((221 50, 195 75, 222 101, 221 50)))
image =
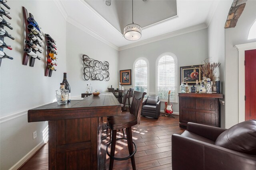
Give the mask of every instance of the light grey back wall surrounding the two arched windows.
MULTIPOLYGON (((139 57, 145 57, 149 61, 148 93, 156 93, 156 59, 162 53, 173 53, 178 58, 178 82, 176 86, 180 92, 180 66, 202 64, 202 61, 208 57, 207 43, 207 29, 202 29, 122 50, 119 52, 119 70, 132 69, 133 72, 134 61, 139 57)), ((132 86, 124 86, 126 89, 130 87, 132 86)), ((164 109, 163 103, 161 109, 164 109)), ((173 110, 179 112, 178 104, 173 104, 173 110)))

